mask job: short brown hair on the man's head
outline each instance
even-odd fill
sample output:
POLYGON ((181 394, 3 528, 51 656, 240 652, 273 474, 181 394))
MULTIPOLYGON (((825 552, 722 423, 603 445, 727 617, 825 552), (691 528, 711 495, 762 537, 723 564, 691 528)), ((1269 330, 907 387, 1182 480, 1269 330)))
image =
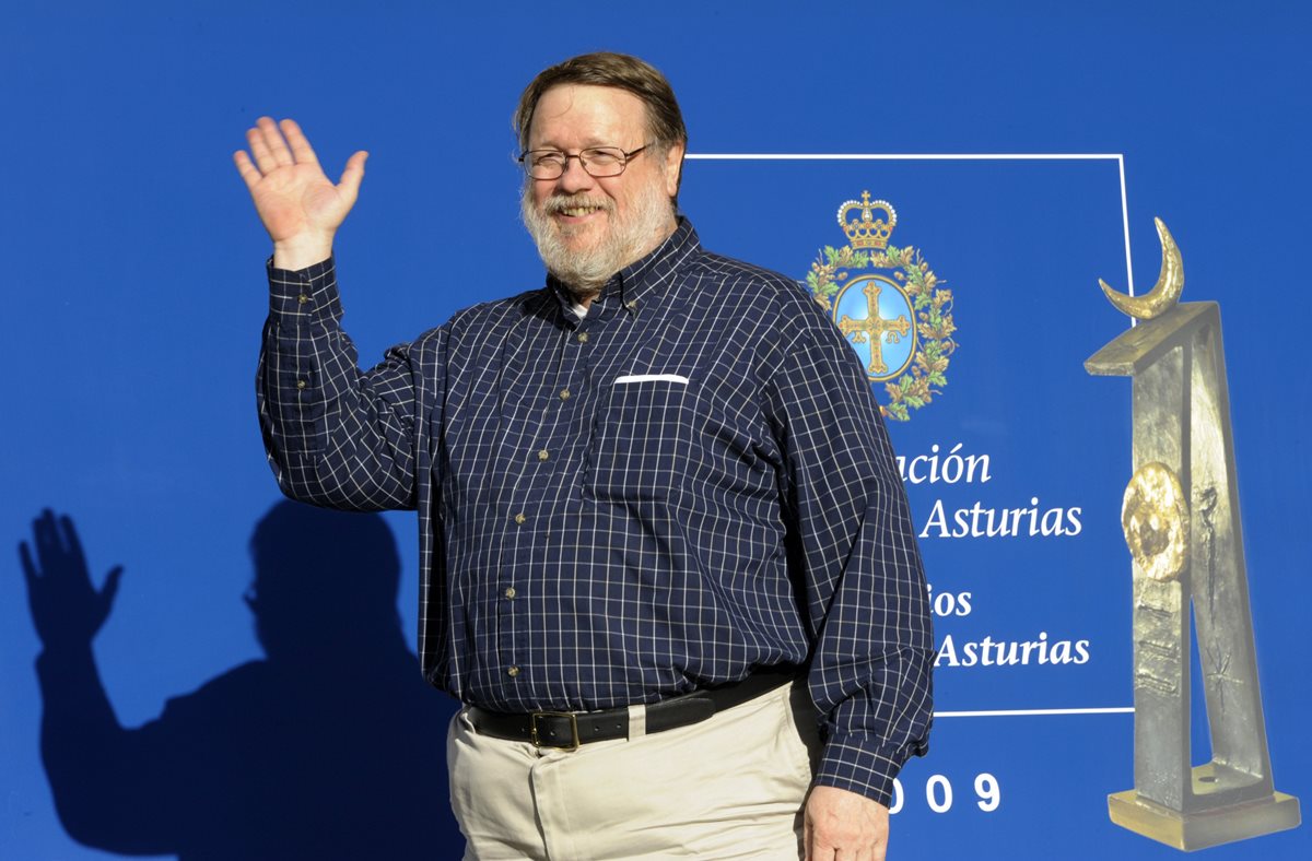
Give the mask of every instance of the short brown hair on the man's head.
MULTIPOLYGON (((538 107, 538 100, 552 86, 564 84, 614 86, 632 93, 647 109, 652 143, 664 144, 666 149, 670 144, 684 144, 686 152, 687 127, 684 126, 684 114, 678 110, 674 90, 665 76, 636 56, 610 51, 580 54, 538 72, 523 89, 520 106, 514 110, 514 131, 521 148, 529 145, 529 127, 533 124, 533 111, 538 107)), ((678 174, 682 181, 682 168, 678 174)))

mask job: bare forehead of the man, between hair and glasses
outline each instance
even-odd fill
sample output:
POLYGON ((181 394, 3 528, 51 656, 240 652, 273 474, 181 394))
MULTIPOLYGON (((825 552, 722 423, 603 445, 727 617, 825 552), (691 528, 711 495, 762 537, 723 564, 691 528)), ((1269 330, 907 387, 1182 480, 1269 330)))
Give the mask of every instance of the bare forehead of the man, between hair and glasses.
POLYGON ((533 145, 626 145, 647 128, 647 107, 628 90, 590 84, 552 86, 538 100, 529 126, 533 145), (558 140, 559 139, 559 140, 558 140), (568 140, 565 140, 568 139, 568 140))

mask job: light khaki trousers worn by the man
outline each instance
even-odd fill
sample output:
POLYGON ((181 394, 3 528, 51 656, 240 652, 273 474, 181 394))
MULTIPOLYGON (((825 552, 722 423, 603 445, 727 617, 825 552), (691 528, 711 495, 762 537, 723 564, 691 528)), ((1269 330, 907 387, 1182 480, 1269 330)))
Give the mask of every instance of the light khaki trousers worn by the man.
POLYGON ((820 743, 804 684, 711 718, 577 751, 479 735, 466 712, 446 752, 466 860, 802 857, 802 805, 820 743))

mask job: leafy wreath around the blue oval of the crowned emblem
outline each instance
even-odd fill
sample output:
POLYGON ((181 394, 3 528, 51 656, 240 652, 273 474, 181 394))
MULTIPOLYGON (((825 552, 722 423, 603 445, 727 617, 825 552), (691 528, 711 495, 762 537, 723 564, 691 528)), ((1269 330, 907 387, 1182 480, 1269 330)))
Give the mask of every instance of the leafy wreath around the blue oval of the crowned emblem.
POLYGON ((811 263, 807 273, 807 290, 825 312, 833 307, 833 296, 848 279, 848 270, 891 269, 893 278, 905 291, 916 315, 916 333, 920 335, 920 350, 916 360, 896 379, 884 383, 888 405, 879 410, 887 418, 901 422, 911 419, 911 410, 920 409, 942 394, 947 385, 949 358, 956 350, 953 333, 953 291, 941 287, 929 263, 920 250, 907 245, 890 245, 882 252, 855 250, 850 245, 833 248, 825 245, 811 263), (939 387, 939 388, 935 388, 939 387))

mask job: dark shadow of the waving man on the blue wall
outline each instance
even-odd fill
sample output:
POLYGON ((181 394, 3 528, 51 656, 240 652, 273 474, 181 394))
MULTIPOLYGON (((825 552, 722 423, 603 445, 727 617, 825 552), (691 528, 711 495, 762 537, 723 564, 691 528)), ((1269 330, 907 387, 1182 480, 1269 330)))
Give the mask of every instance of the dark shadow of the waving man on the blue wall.
POLYGON ((445 765, 457 705, 405 645, 380 516, 270 508, 245 595, 265 659, 139 729, 119 725, 91 647, 122 567, 97 590, 67 516, 42 512, 33 537, 20 557, 43 646, 41 754, 75 840, 181 861, 461 853, 445 765))

